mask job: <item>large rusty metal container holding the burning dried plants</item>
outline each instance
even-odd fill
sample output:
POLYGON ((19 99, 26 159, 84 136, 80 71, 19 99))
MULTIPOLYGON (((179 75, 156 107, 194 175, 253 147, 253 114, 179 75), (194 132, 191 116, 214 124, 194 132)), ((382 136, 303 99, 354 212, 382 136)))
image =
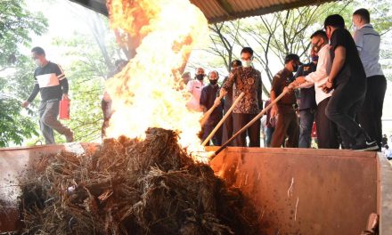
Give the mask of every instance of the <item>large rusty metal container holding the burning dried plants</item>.
MULTIPOLYGON (((77 143, 0 149, 0 233, 20 226, 17 179, 35 158, 96 148, 77 143)), ((266 234, 357 235, 371 213, 380 215, 380 234, 392 234, 392 167, 380 154, 230 147, 210 166, 241 188, 266 234)))

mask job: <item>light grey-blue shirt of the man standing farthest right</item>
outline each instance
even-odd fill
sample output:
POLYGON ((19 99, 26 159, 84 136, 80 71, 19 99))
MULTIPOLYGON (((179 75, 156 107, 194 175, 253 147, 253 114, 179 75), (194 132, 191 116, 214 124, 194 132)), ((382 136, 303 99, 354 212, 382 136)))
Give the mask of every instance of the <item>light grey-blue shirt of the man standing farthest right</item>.
POLYGON ((380 60, 380 34, 371 24, 356 29, 354 41, 361 58, 366 77, 383 75, 380 60))

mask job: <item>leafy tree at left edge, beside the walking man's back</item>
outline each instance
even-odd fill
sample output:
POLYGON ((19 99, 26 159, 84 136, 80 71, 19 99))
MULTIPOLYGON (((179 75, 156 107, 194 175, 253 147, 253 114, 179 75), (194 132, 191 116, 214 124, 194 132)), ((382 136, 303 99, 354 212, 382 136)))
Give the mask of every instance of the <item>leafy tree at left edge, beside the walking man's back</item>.
POLYGON ((37 135, 33 113, 23 112, 20 101, 32 89, 32 61, 20 53, 29 46, 31 34, 45 33, 47 20, 42 13, 26 10, 23 0, 0 2, 0 147, 22 144, 37 135))

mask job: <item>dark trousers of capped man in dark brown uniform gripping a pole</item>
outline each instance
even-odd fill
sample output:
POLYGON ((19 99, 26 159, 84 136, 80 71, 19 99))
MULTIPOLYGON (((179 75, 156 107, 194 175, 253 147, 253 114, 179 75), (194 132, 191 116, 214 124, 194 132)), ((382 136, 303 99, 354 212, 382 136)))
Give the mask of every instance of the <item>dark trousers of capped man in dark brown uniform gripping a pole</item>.
POLYGON ((290 113, 279 114, 273 134, 272 148, 281 148, 286 137, 289 137, 285 147, 298 148, 299 126, 297 114, 293 110, 290 113))

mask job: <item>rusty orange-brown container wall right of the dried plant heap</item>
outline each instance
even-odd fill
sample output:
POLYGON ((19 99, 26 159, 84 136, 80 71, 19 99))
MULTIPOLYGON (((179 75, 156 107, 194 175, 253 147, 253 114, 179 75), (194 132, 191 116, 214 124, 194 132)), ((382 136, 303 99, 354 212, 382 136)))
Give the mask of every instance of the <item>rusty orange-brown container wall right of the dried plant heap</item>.
POLYGON ((266 234, 358 235, 377 212, 375 153, 229 148, 211 163, 257 209, 266 234))

